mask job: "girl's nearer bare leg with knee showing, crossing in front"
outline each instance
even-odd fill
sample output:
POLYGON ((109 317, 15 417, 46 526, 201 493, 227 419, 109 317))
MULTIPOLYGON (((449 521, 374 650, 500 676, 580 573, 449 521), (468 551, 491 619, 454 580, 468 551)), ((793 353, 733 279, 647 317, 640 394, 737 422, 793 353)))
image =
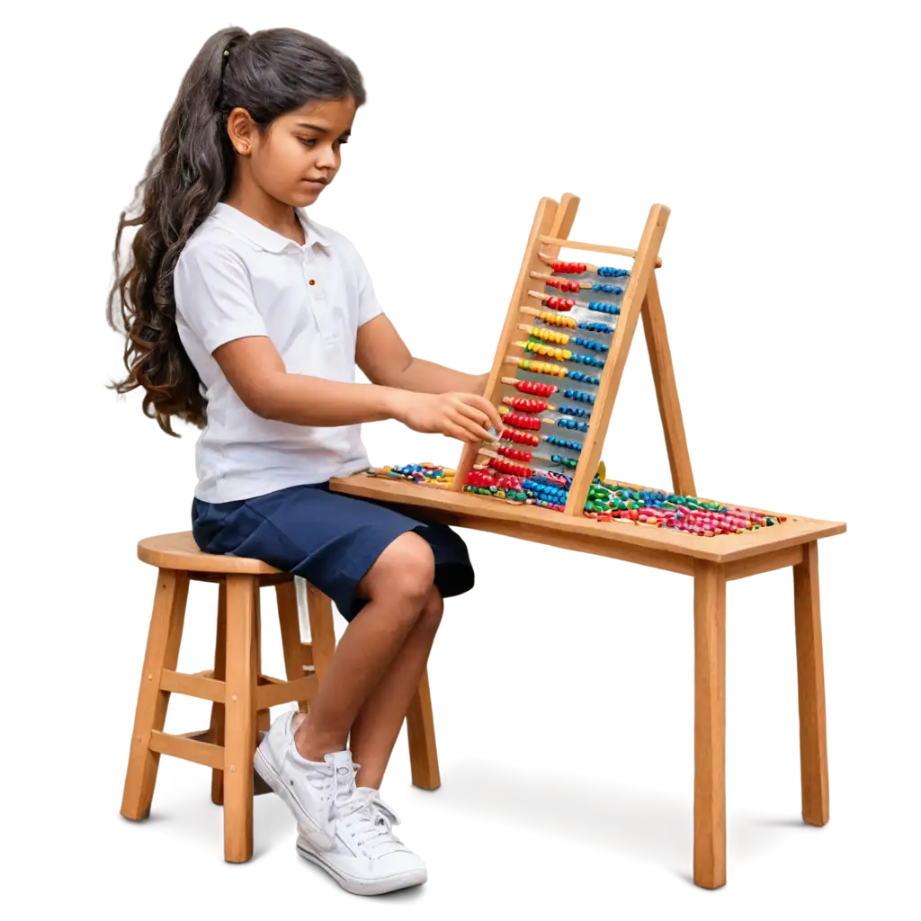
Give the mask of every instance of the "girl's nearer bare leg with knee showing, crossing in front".
POLYGON ((295 732, 297 751, 308 761, 321 762, 324 755, 344 750, 361 708, 427 611, 434 579, 432 548, 412 531, 393 541, 368 571, 363 580, 367 605, 336 644, 317 696, 295 732))

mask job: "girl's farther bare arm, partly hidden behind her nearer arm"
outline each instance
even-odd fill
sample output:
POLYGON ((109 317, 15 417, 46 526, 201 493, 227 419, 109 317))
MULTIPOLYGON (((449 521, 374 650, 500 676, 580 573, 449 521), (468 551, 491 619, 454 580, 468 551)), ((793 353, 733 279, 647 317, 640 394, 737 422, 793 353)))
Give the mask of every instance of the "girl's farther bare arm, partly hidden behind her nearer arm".
POLYGON ((486 375, 457 374, 412 355, 386 313, 358 329, 356 363, 368 380, 422 393, 482 393, 486 375))

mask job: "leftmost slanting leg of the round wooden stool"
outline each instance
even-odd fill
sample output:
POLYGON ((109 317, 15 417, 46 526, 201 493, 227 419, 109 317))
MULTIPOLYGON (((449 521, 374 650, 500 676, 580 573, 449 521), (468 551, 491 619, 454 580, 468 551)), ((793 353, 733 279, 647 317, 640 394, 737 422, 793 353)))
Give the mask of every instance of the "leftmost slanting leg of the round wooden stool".
POLYGON ((160 691, 160 677, 165 668, 175 664, 172 659, 185 582, 185 574, 174 570, 155 569, 151 573, 150 612, 122 772, 120 811, 134 822, 146 817, 156 794, 157 756, 150 751, 150 733, 164 725, 165 694, 160 691))

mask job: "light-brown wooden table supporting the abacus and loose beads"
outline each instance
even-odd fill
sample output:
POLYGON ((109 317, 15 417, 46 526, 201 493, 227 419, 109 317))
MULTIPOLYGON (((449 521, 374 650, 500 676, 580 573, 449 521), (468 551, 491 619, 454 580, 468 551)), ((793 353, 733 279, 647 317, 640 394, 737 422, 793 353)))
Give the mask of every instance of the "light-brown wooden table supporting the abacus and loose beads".
POLYGON ((763 569, 793 571, 793 693, 799 719, 799 810, 803 821, 829 822, 822 732, 825 598, 819 562, 822 537, 847 527, 841 519, 787 520, 771 528, 700 538, 675 531, 574 518, 367 474, 332 481, 345 495, 417 507, 416 514, 454 528, 564 554, 652 568, 692 583, 691 774, 694 884, 727 882, 723 787, 723 599, 726 580, 763 569))

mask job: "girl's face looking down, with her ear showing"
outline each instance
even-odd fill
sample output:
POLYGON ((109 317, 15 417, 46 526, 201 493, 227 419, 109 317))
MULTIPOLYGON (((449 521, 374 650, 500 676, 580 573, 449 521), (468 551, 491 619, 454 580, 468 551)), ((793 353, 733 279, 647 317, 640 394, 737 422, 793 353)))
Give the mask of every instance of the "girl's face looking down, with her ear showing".
POLYGON ((244 169, 262 192, 290 207, 307 207, 339 168, 355 113, 355 100, 343 99, 288 112, 262 133, 246 124, 245 112, 239 122, 231 116, 227 127, 244 169))

